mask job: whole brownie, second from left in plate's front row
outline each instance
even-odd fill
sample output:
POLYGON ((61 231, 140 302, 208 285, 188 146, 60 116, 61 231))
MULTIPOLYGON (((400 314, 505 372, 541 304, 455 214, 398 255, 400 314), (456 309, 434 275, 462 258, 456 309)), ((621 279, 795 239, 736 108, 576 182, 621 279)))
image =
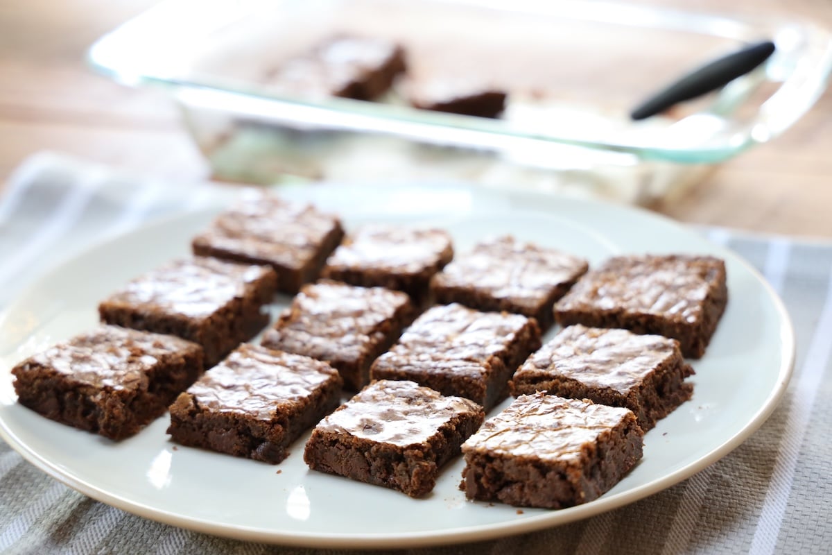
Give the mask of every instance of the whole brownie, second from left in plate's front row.
POLYGON ((176 398, 167 433, 183 445, 276 464, 340 394, 329 364, 242 344, 176 398))

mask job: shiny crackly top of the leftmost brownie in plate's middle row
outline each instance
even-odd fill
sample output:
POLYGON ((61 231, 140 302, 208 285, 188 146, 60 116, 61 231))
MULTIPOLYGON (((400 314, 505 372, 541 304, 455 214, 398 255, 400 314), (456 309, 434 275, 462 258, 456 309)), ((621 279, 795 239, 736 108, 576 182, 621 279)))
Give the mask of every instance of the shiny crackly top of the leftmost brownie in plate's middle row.
POLYGON ((274 270, 197 256, 175 260, 132 280, 104 301, 143 310, 205 318, 274 270))

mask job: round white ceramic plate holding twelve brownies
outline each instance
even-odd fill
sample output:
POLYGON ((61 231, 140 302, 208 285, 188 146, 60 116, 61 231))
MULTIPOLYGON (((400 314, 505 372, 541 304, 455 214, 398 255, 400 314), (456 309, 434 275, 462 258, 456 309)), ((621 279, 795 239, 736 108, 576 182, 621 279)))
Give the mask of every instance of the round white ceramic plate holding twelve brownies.
POLYGON ((592 503, 560 511, 466 501, 458 490, 461 459, 444 468, 433 493, 414 500, 311 472, 302 459, 308 436, 292 446, 284 463, 271 466, 176 448, 165 434, 167 417, 114 444, 17 405, 12 365, 91 329, 97 325, 98 301, 111 290, 186 255, 191 236, 215 211, 189 213, 87 250, 0 315, 2 438, 72 488, 161 522, 319 548, 415 547, 529 532, 656 493, 739 445, 774 409, 789 380, 794 334, 780 300, 760 275, 729 251, 646 211, 464 186, 308 186, 284 194, 338 212, 348 229, 367 221, 441 225, 453 234, 458 252, 487 235, 510 232, 583 255, 592 264, 617 253, 710 253, 726 260, 730 301, 706 356, 693 361, 694 398, 646 434, 644 458, 621 483, 592 503))

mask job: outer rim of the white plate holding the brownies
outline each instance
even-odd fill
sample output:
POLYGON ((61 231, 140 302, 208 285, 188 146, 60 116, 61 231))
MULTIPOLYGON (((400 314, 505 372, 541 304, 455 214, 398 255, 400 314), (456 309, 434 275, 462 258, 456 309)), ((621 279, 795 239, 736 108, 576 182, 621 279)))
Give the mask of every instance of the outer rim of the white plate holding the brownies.
MULTIPOLYGON (((350 184, 351 186, 367 187, 367 184, 350 184)), ((291 191, 302 190, 310 185, 298 186, 283 186, 278 190, 291 191)), ((343 187, 343 184, 337 183, 323 183, 315 184, 315 188, 338 186, 343 187)), ((371 184, 370 186, 376 186, 371 184)), ((419 183, 404 186, 396 186, 397 188, 408 186, 417 186, 418 189, 446 189, 448 184, 437 183, 419 183)), ((641 486, 631 488, 622 493, 616 493, 612 496, 602 496, 592 503, 577 505, 572 508, 560 509, 552 513, 543 513, 540 515, 524 518, 519 521, 509 521, 503 523, 481 524, 475 526, 465 526, 461 528, 451 528, 442 532, 408 532, 408 533, 362 533, 354 535, 344 535, 340 533, 284 533, 265 530, 257 527, 246 527, 238 525, 223 525, 215 523, 204 518, 189 518, 181 516, 176 513, 163 508, 154 508, 146 503, 139 503, 131 501, 131 499, 124 496, 113 494, 105 489, 98 488, 92 483, 85 480, 78 479, 71 474, 62 473, 58 468, 57 463, 53 463, 47 458, 43 458, 36 453, 29 445, 17 437, 11 429, 7 428, 7 423, 2 419, 0 414, 0 438, 13 448, 17 453, 20 453, 29 463, 32 463, 36 468, 39 468, 44 473, 47 473, 52 478, 57 479, 58 482, 75 489, 79 493, 87 495, 87 497, 96 499, 101 503, 106 503, 112 507, 119 508, 127 513, 136 514, 141 518, 148 518, 158 523, 165 523, 179 528, 186 528, 198 533, 207 533, 213 536, 220 536, 224 538, 233 538, 237 540, 271 543, 293 547, 307 547, 307 548, 422 548, 429 546, 449 545, 456 543, 470 543, 475 541, 487 541, 495 538, 508 538, 522 533, 531 533, 547 528, 556 528, 563 524, 573 523, 577 520, 590 518, 598 514, 607 513, 616 508, 622 508, 637 500, 647 498, 655 493, 659 493, 666 488, 680 483, 686 478, 690 478, 694 474, 701 472, 713 463, 716 463, 721 458, 739 447, 746 439, 754 434, 760 426, 770 417, 770 414, 776 409, 785 394, 786 389, 790 383, 792 374, 795 368, 796 356, 796 341, 794 325, 791 321, 790 315, 785 308, 783 300, 780 295, 776 293, 774 288, 765 280, 765 277, 760 274, 754 266, 743 259, 740 255, 732 250, 707 240, 705 237, 696 234, 696 231, 686 227, 681 222, 674 221, 671 218, 662 216, 652 211, 647 211, 641 207, 636 206, 622 206, 616 203, 601 201, 597 199, 579 199, 547 195, 545 193, 537 193, 533 191, 503 191, 486 189, 482 186, 475 186, 464 184, 460 182, 453 182, 450 186, 462 188, 463 191, 468 192, 472 196, 492 195, 495 198, 516 197, 519 199, 526 199, 532 201, 530 206, 523 206, 518 211, 537 212, 542 214, 549 213, 547 206, 553 206, 552 203, 577 203, 585 206, 606 206, 607 209, 619 211, 621 213, 630 213, 639 218, 648 218, 661 225, 670 225, 676 230, 681 230, 691 236, 696 236, 698 239, 708 243, 714 250, 720 250, 721 256, 732 259, 735 264, 743 267, 743 270, 748 272, 756 281, 763 286, 768 300, 770 300, 775 308, 775 312, 780 316, 779 329, 780 339, 783 345, 783 352, 785 356, 780 360, 780 367, 777 372, 777 379, 775 387, 769 392, 765 398, 765 402, 760 406, 756 412, 749 416, 747 424, 737 431, 729 440, 721 444, 717 448, 706 453, 705 456, 698 458, 690 463, 677 468, 671 473, 658 478, 651 483, 645 483, 641 486), (552 520, 552 515, 557 515, 555 522, 548 522, 552 520)), ((176 211, 160 218, 146 221, 136 228, 125 230, 117 235, 109 237, 102 237, 85 247, 73 251, 71 254, 58 259, 54 264, 47 267, 40 275, 37 276, 29 285, 22 288, 15 298, 2 310, 0 310, 0 323, 7 319, 7 315, 17 306, 19 302, 27 295, 31 295, 33 290, 37 290, 38 286, 43 280, 46 280, 49 275, 59 270, 62 266, 67 265, 79 257, 89 255, 92 251, 101 249, 104 245, 111 244, 122 240, 128 235, 140 235, 146 233, 148 228, 164 227, 166 225, 173 225, 176 221, 181 221, 189 217, 208 216, 210 213, 215 213, 220 210, 218 206, 204 207, 198 210, 184 210, 176 211)))

